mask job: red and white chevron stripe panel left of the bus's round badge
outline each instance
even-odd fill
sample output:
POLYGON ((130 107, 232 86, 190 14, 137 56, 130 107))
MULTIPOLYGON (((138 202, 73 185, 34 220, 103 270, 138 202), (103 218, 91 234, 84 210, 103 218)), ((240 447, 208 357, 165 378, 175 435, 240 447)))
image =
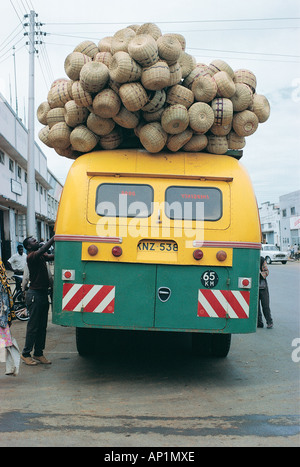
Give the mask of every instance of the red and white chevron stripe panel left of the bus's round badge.
POLYGON ((115 287, 112 285, 63 284, 63 311, 114 313, 115 287))

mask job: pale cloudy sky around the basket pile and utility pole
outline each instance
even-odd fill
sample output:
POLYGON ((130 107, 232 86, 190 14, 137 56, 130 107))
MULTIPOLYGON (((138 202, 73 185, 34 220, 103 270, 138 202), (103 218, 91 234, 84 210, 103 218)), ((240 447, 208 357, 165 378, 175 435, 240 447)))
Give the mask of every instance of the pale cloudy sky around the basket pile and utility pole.
MULTIPOLYGON (((257 93, 271 105, 267 122, 246 138, 241 163, 251 177, 258 204, 278 203, 300 189, 300 2, 299 0, 1 0, 0 93, 27 125, 29 53, 24 33, 30 10, 38 15, 35 109, 51 83, 66 77, 66 56, 83 40, 99 40, 130 24, 156 23, 162 33, 186 38, 197 62, 225 60, 233 70, 256 75, 257 93), (41 23, 41 24, 40 24, 41 23), (46 33, 46 35, 45 35, 46 33)), ((64 183, 72 161, 38 139, 48 167, 64 183)))

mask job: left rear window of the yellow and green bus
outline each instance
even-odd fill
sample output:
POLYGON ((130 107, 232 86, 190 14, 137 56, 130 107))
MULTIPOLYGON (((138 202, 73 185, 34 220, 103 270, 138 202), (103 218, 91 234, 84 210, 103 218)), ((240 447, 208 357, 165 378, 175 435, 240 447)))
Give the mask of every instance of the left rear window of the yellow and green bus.
POLYGON ((103 183, 96 192, 96 212, 108 217, 149 217, 153 188, 150 185, 103 183))

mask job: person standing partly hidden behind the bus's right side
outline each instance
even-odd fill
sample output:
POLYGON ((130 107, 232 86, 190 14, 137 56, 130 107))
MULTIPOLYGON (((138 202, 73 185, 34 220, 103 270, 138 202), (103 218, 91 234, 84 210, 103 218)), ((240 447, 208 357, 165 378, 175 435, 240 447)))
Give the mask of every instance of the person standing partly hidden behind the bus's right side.
POLYGON ((270 296, 269 296, 269 288, 267 282, 267 276, 269 275, 269 269, 265 258, 263 256, 260 257, 260 268, 259 268, 259 298, 258 298, 258 316, 257 316, 257 327, 263 328, 263 319, 262 319, 262 312, 267 322, 267 328, 272 329, 273 327, 273 319, 271 316, 270 310, 270 296), (262 308, 262 312, 261 312, 262 308))

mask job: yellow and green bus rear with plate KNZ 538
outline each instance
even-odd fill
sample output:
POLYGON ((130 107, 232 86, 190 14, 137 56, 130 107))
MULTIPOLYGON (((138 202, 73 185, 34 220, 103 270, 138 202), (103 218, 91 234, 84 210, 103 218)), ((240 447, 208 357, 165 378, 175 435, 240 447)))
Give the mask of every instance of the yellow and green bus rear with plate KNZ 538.
POLYGON ((53 322, 76 328, 82 355, 110 329, 189 332, 216 356, 256 330, 259 217, 234 157, 81 156, 55 233, 53 322))

